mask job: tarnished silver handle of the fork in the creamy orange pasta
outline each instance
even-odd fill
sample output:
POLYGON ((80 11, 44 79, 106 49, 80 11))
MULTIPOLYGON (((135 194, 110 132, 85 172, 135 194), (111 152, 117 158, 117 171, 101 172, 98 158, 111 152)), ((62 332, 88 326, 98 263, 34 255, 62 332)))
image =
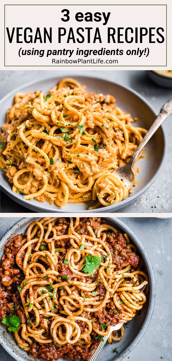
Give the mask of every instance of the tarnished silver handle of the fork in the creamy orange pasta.
POLYGON ((158 114, 158 117, 155 119, 150 129, 147 131, 141 143, 138 145, 136 151, 134 152, 132 158, 129 161, 132 168, 140 152, 143 150, 143 148, 145 147, 151 136, 156 132, 156 130, 160 127, 160 125, 164 122, 164 120, 170 116, 170 114, 172 114, 172 100, 168 100, 163 105, 163 107, 160 110, 160 113, 158 114))

